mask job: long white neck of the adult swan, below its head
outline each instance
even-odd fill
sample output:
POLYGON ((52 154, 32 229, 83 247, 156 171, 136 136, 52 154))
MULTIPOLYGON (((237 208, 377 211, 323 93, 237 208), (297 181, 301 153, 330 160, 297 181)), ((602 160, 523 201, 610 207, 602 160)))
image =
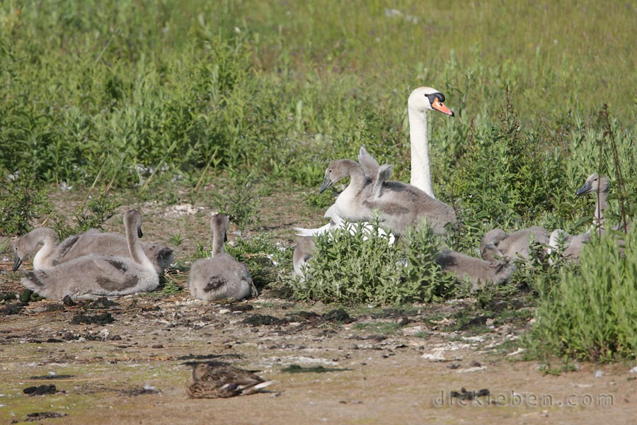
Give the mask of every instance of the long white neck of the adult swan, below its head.
POLYGON ((429 166, 429 140, 427 140, 427 113, 408 108, 409 139, 411 142, 411 185, 435 198, 431 186, 429 166))

